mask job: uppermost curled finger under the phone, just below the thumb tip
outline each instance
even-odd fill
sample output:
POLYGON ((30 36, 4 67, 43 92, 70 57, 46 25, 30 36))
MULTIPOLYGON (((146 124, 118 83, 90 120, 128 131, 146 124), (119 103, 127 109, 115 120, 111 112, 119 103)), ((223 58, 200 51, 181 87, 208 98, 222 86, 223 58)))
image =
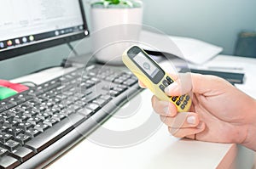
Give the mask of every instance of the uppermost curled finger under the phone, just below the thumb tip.
POLYGON ((174 116, 177 115, 177 108, 171 102, 166 102, 153 96, 151 99, 154 111, 160 115, 174 116))

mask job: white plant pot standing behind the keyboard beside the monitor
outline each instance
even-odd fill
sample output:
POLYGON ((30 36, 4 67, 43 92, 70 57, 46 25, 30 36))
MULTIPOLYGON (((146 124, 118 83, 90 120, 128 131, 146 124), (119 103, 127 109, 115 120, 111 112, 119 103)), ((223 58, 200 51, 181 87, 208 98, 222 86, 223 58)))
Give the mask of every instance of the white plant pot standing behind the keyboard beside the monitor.
POLYGON ((121 65, 121 55, 137 42, 143 8, 91 8, 92 52, 99 62, 121 65))

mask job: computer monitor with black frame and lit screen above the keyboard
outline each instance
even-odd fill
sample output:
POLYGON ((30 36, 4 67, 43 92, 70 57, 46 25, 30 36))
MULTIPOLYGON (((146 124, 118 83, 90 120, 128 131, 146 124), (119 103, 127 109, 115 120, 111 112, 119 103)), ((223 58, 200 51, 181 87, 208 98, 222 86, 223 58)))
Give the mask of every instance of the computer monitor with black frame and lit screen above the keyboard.
POLYGON ((0 60, 89 35, 82 0, 1 0, 0 60))

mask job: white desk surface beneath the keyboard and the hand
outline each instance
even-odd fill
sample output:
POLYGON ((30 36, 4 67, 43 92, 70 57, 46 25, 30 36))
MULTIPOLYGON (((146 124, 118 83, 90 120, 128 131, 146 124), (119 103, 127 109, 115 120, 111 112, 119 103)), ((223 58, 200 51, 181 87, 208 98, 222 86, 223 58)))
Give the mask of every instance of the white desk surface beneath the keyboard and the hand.
MULTIPOLYGON (((243 67, 247 78, 243 85, 237 85, 237 87, 256 97, 256 89, 253 89, 256 59, 219 55, 207 65, 243 67)), ((42 79, 47 81, 54 76, 60 76, 61 73, 61 68, 54 68, 35 75, 21 77, 15 82, 29 80, 40 83, 43 82, 42 79)), ((137 101, 143 98, 136 115, 126 119, 113 116, 102 127, 120 131, 142 124, 153 111, 150 102, 151 96, 152 93, 144 90, 129 102, 129 104, 137 105, 137 101)), ((125 106, 115 115, 124 113, 127 110, 125 106)), ((155 116, 159 119, 157 115, 155 116)), ((101 132, 101 130, 96 130, 93 134, 97 132, 101 132)), ((92 143, 90 139, 84 139, 48 168, 229 168, 236 165, 234 162, 236 151, 236 144, 179 140, 167 132, 166 126, 161 126, 157 132, 142 143, 121 149, 101 146, 92 143)))

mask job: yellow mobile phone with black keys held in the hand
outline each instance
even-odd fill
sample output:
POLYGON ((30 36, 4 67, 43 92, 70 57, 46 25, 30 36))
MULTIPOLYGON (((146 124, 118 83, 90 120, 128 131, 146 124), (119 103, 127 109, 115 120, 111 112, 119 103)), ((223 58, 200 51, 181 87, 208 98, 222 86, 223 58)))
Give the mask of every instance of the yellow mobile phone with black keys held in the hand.
POLYGON ((165 88, 174 82, 170 76, 142 48, 132 46, 122 56, 124 64, 148 87, 154 95, 176 105, 178 112, 189 111, 191 99, 188 94, 168 96, 165 88))

